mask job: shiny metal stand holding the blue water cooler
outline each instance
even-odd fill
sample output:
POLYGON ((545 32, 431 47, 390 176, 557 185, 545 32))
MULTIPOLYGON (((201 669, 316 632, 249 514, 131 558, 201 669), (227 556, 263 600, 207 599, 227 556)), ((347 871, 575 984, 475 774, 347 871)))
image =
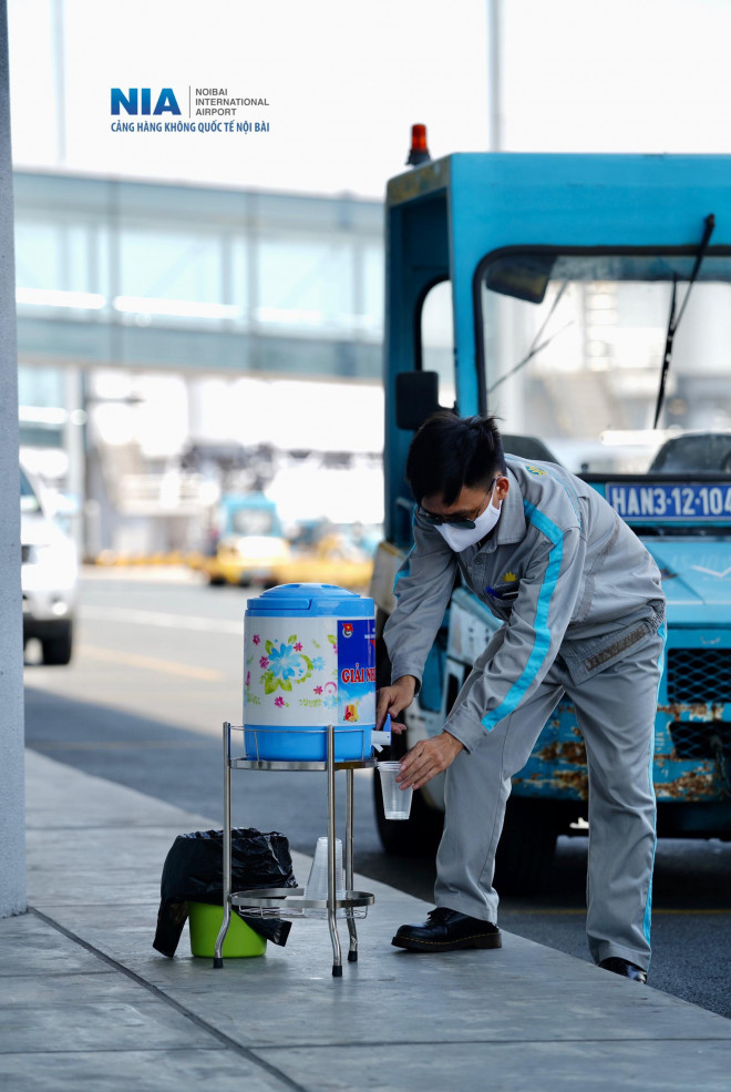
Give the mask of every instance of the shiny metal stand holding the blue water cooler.
MULTIPOLYGON (((322 729, 319 729, 322 731, 322 729)), ((248 915, 279 918, 301 918, 306 910, 327 910, 330 941, 332 943, 332 974, 342 976, 342 951, 338 936, 337 911, 344 909, 348 921, 350 946, 348 961, 358 961, 358 932, 356 918, 366 917, 368 907, 373 905, 373 896, 368 891, 354 891, 353 887, 353 772, 371 769, 375 766, 374 758, 360 758, 348 762, 336 762, 334 758, 334 726, 327 727, 327 759, 326 762, 267 761, 260 758, 231 758, 231 724, 224 722, 224 920, 216 938, 214 967, 224 966, 223 948, 226 933, 231 920, 231 907, 239 906, 248 915), (256 891, 231 891, 231 769, 278 769, 278 770, 320 770, 327 773, 328 780, 328 897, 327 899, 306 899, 305 889, 271 888, 256 891), (346 838, 344 838, 344 898, 337 897, 338 878, 336 876, 336 792, 334 775, 337 770, 346 772, 346 838)))

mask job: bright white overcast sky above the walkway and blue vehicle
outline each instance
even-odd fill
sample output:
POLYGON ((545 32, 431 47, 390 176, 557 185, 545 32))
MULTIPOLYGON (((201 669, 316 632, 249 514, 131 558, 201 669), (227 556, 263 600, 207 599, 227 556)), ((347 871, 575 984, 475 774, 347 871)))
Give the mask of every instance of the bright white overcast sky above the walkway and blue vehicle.
MULTIPOLYGON (((505 150, 729 150, 731 0, 495 2, 505 150)), ((378 198, 414 122, 435 156, 490 146, 488 8, 9 0, 16 165, 378 198), (188 89, 265 99, 236 118, 269 130, 112 132, 115 86, 173 88, 185 120, 188 89)))

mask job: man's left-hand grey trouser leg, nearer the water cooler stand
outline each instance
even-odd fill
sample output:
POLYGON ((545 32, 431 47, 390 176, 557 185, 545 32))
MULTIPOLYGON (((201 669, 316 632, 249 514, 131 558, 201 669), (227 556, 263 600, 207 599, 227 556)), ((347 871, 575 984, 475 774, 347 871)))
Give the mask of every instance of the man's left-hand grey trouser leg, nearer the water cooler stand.
MULTIPOLYGON (((475 666, 494 655, 494 642, 475 666)), ((462 701, 470 680, 460 692, 462 701)), ((486 732, 470 753, 461 752, 446 772, 444 834, 436 855, 437 906, 495 921, 495 850, 503 829, 511 777, 526 764, 540 729, 564 693, 550 673, 519 710, 486 732)))

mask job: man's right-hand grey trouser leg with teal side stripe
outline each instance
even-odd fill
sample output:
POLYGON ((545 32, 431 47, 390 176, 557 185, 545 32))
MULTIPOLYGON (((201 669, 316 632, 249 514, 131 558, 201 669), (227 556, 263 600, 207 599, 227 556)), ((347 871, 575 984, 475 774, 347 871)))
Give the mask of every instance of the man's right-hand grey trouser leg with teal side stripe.
POLYGON ((655 860, 652 757, 663 641, 569 690, 589 770, 587 937, 596 962, 647 969, 655 860))

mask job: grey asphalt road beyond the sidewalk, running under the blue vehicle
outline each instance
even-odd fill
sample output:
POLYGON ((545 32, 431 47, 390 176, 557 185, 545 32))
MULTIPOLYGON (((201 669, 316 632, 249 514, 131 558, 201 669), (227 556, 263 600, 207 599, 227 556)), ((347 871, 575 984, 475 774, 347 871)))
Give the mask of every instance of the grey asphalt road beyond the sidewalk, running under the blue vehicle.
MULTIPOLYGON (((87 570, 71 666, 40 666, 27 650, 28 745, 220 825, 222 722, 241 720, 245 606, 243 591, 192 574, 87 570)), ((371 777, 356 775, 356 867, 430 901, 433 861, 381 850, 371 777)), ((320 774, 234 774, 233 799, 236 825, 281 830, 303 853, 325 833, 320 774)), ((588 959, 585 874, 585 840, 560 838, 548 894, 504 899, 501 925, 588 959)), ((651 984, 731 1017, 731 843, 658 843, 652 931, 651 984)))

